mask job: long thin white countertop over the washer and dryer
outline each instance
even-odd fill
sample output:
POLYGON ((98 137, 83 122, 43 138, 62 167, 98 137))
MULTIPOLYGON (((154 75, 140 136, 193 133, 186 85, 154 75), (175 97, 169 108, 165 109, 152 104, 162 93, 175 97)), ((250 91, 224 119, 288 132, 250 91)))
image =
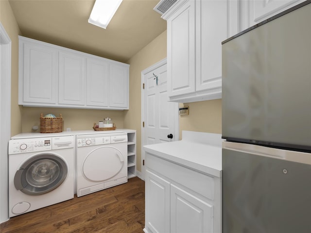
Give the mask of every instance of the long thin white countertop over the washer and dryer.
POLYGON ((19 133, 12 136, 11 139, 21 139, 21 138, 36 138, 36 137, 59 137, 68 135, 84 135, 84 134, 102 134, 102 133, 130 133, 136 132, 130 129, 116 129, 107 131, 95 131, 95 130, 74 130, 74 131, 64 131, 61 133, 19 133))

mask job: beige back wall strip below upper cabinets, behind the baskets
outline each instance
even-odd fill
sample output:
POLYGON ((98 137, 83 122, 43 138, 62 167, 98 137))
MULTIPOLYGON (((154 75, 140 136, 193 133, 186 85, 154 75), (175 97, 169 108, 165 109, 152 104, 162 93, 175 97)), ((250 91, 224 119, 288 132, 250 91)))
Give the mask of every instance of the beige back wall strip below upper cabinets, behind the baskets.
POLYGON ((94 110, 94 109, 71 109, 71 108, 38 108, 22 107, 22 132, 39 132, 33 131, 32 127, 40 127, 40 114, 62 114, 64 131, 67 128, 71 130, 92 130, 94 122, 104 120, 104 117, 112 118, 116 127, 123 127, 124 111, 117 110, 94 110))

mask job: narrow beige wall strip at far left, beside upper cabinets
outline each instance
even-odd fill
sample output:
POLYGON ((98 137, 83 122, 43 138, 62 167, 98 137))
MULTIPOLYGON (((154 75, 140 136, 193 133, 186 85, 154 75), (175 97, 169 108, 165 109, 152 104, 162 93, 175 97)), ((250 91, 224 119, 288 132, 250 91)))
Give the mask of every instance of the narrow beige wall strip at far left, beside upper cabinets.
POLYGON ((18 106, 18 35, 21 35, 16 19, 7 0, 0 0, 0 21, 11 44, 11 135, 21 132, 21 108, 18 106))

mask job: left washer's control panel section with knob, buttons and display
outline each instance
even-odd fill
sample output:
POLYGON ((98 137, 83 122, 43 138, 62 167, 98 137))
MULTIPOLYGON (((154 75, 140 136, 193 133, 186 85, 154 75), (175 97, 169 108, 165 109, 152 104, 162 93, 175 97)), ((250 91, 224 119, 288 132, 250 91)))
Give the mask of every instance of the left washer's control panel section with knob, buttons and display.
POLYGON ((52 138, 24 138, 9 141, 9 154, 52 150, 52 138))

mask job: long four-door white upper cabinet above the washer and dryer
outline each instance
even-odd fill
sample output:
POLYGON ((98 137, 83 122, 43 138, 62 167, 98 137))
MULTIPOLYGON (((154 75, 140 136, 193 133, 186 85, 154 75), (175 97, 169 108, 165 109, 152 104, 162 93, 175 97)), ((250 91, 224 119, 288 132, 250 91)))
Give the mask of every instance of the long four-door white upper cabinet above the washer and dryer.
POLYGON ((129 65, 19 36, 18 104, 128 109, 129 65))

